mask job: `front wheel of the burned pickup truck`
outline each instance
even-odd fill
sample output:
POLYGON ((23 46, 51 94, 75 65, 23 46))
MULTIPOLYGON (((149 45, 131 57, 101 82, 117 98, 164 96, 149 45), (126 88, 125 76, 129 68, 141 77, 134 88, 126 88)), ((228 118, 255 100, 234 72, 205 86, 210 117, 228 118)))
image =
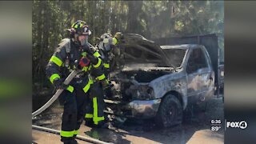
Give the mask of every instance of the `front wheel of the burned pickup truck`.
POLYGON ((155 122, 158 126, 169 127, 182 123, 182 105, 178 98, 168 94, 162 99, 155 122))

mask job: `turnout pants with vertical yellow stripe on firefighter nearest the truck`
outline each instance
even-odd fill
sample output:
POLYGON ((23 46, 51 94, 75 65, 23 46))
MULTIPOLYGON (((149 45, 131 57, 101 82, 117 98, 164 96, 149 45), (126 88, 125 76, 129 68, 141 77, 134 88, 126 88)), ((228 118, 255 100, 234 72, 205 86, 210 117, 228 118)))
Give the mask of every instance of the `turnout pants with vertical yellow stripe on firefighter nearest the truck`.
POLYGON ((86 103, 86 122, 93 122, 94 125, 102 124, 105 120, 103 111, 105 109, 105 102, 102 86, 98 82, 94 82, 90 86, 89 97, 86 103))

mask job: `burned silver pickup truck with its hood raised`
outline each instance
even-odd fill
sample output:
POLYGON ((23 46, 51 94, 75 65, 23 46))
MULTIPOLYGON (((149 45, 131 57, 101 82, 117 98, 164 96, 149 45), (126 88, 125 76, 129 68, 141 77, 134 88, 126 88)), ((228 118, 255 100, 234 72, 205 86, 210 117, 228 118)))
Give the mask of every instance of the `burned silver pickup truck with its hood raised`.
POLYGON ((182 122, 189 103, 214 95, 210 54, 198 44, 159 46, 138 34, 126 34, 118 48, 118 69, 110 73, 112 97, 107 110, 126 118, 155 118, 159 126, 182 122))

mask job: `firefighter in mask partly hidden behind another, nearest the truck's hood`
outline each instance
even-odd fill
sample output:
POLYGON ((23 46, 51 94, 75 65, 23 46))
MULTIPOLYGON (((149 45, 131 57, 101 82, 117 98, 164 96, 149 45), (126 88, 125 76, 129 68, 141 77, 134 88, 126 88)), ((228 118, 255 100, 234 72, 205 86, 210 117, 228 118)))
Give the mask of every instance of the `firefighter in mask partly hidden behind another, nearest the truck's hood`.
MULTIPOLYGON (((98 83, 98 86, 95 86, 95 89, 92 88, 91 94, 94 93, 98 93, 98 94, 94 94, 95 96, 97 96, 96 98, 98 98, 98 106, 90 106, 87 105, 86 106, 86 114, 85 114, 85 120, 86 126, 90 126, 90 127, 108 127, 108 123, 106 123, 106 119, 104 118, 104 120, 102 122, 100 122, 99 124, 97 122, 94 122, 95 118, 94 116, 94 111, 98 111, 98 113, 103 113, 103 110, 105 109, 105 102, 104 102, 104 97, 103 95, 105 95, 106 97, 111 97, 112 93, 111 93, 111 84, 110 84, 110 79, 109 79, 109 74, 110 74, 110 62, 111 60, 114 58, 114 48, 115 45, 118 43, 118 40, 122 40, 123 39, 123 35, 122 33, 118 32, 115 34, 115 37, 113 37, 111 34, 109 33, 105 33, 102 34, 100 38, 98 38, 99 42, 98 44, 95 46, 96 49, 94 49, 94 56, 97 58, 101 58, 102 59, 102 64, 104 66, 104 74, 106 75, 106 79, 102 80, 102 82, 98 83), (98 110, 95 110, 94 107, 98 107, 98 110)), ((94 100, 95 101, 95 100, 94 100)), ((95 105, 94 103, 96 102, 90 102, 90 104, 95 105)), ((100 114, 100 115, 102 115, 100 114)))

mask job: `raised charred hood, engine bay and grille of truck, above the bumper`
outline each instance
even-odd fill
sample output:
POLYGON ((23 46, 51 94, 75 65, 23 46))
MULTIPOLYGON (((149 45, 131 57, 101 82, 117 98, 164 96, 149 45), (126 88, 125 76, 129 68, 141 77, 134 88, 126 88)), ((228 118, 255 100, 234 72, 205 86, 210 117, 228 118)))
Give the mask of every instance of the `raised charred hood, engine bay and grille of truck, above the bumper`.
POLYGON ((172 66, 162 48, 139 34, 125 34, 121 44, 123 58, 119 70, 110 74, 119 82, 120 93, 126 101, 150 100, 154 97, 153 81, 166 74, 172 74, 172 66))

